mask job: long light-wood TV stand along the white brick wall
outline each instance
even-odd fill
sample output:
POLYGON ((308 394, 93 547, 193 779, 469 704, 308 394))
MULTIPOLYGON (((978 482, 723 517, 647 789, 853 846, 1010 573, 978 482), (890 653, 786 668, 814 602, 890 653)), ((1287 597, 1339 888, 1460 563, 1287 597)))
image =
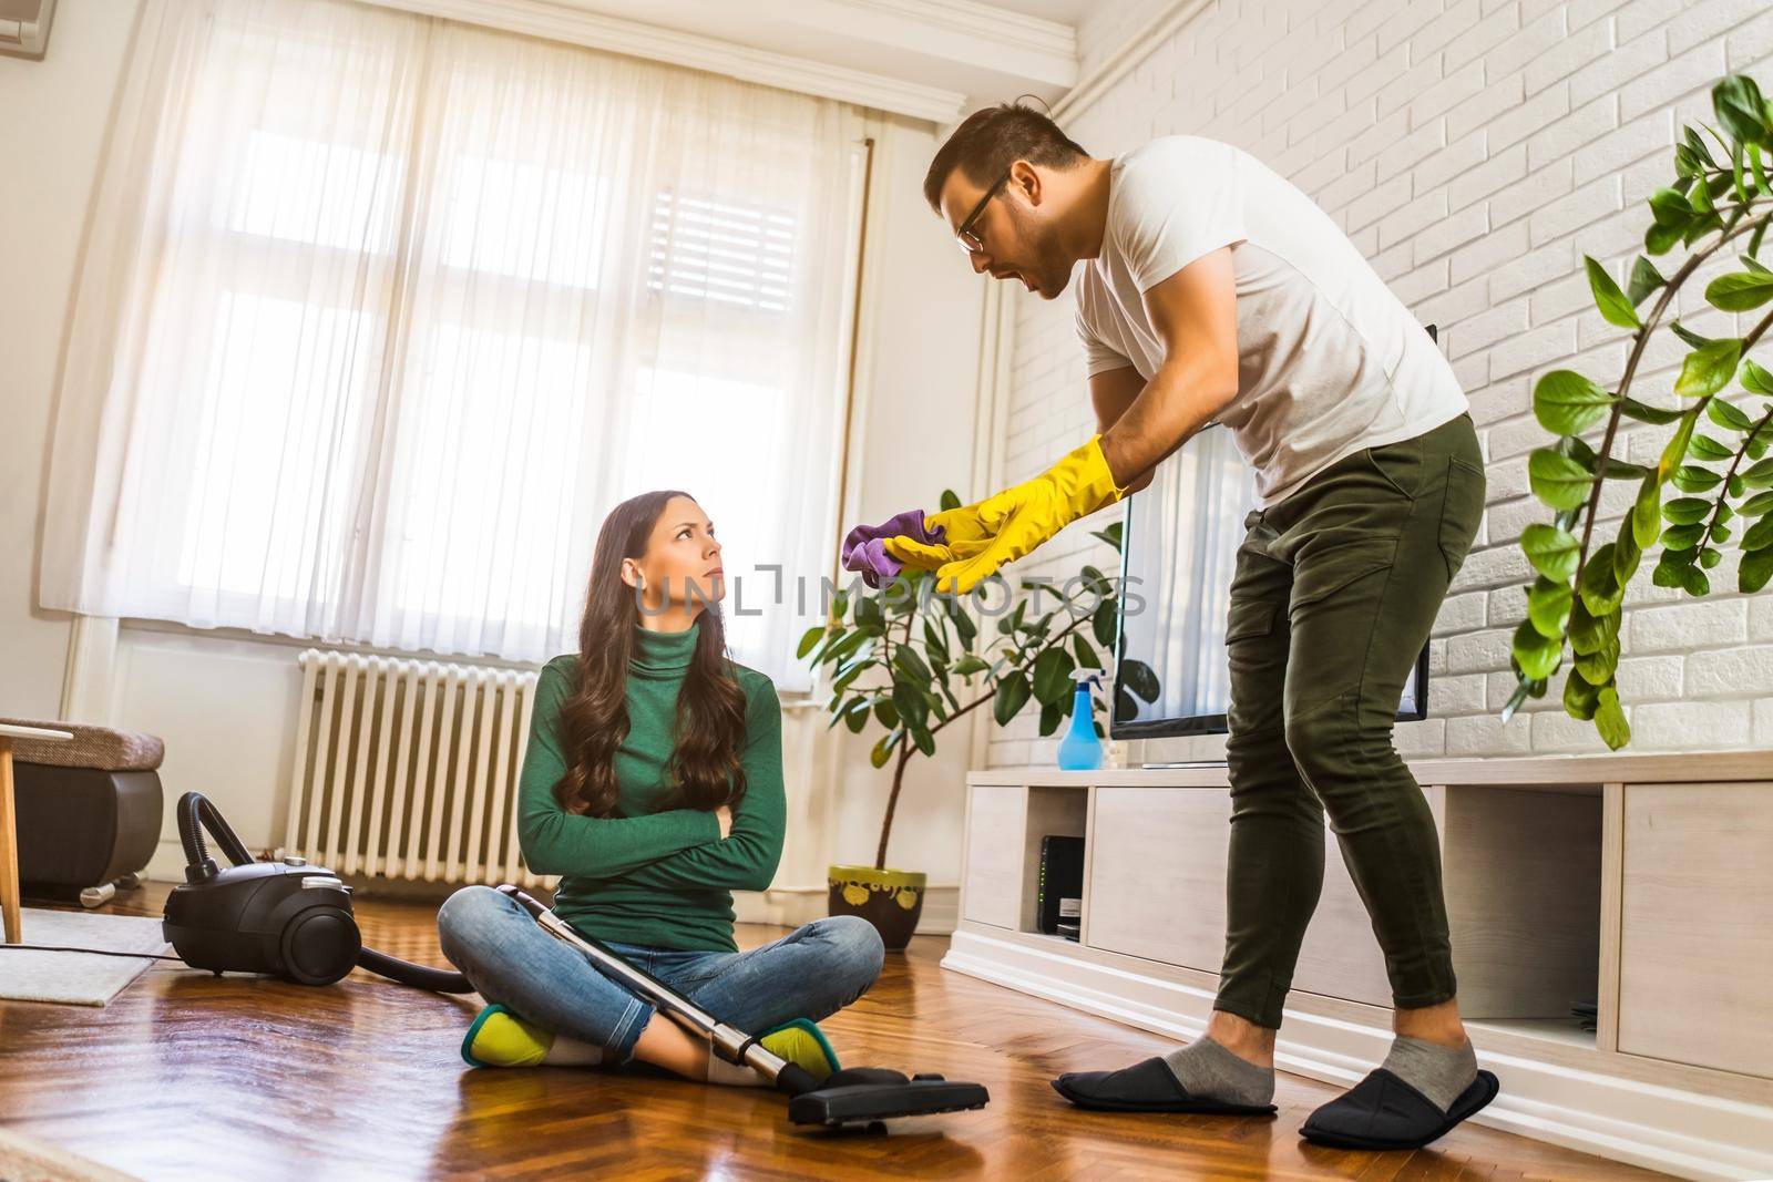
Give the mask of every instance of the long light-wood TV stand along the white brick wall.
MULTIPOLYGON (((1773 1175, 1773 751, 1418 760, 1480 1124, 1695 1178, 1773 1175), (1571 1007, 1596 1005, 1596 1030, 1571 1007), (1654 1086, 1645 1086, 1654 1085, 1654 1086)), ((1179 1038, 1225 939, 1225 767, 968 776, 947 968, 1179 1038), (1082 939, 1035 923, 1041 838, 1082 836, 1082 939)), ((1277 1061, 1355 1083, 1390 985, 1337 842, 1277 1061)), ((1080 1063, 1080 1069, 1099 1065, 1080 1063)))

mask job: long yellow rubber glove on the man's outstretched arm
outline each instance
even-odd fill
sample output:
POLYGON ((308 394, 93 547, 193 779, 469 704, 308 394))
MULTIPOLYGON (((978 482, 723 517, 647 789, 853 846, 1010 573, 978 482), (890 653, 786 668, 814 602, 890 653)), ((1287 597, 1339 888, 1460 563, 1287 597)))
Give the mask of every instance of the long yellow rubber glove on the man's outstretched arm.
POLYGON ((998 567, 1039 548, 1062 528, 1126 496, 1117 487, 1101 436, 1066 454, 1034 480, 1004 489, 973 505, 924 517, 941 526, 941 544, 897 535, 885 549, 908 567, 936 572, 936 590, 965 595, 998 567))

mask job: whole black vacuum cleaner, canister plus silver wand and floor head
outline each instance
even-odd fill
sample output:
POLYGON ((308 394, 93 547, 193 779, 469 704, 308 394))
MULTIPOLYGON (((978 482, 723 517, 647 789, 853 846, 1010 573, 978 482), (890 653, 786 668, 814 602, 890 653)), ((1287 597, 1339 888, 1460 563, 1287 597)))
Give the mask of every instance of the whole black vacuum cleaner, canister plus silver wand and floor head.
MULTIPOLYGON (((365 948, 351 913, 351 888, 324 867, 301 858, 254 861, 252 852, 200 792, 177 805, 184 845, 184 883, 167 897, 161 932, 191 968, 222 973, 269 973, 298 985, 332 985, 353 968, 365 968, 402 985, 434 992, 473 992, 461 973, 433 969, 365 948), (204 842, 209 833, 230 867, 218 867, 204 842)), ((798 1125, 883 1127, 897 1116, 927 1116, 984 1108, 991 1095, 977 1083, 941 1076, 904 1076, 885 1067, 847 1067, 823 1083, 638 969, 594 939, 574 932, 541 902, 504 884, 550 936, 583 952, 606 976, 647 998, 663 1014, 707 1038, 729 1063, 761 1072, 789 1097, 787 1116, 798 1125)))

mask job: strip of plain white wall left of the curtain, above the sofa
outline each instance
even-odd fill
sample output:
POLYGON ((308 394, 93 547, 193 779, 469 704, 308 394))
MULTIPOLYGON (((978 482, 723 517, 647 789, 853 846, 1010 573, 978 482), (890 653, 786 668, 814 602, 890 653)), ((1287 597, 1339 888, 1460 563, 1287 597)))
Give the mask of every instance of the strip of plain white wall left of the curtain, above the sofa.
POLYGON ((0 714, 55 718, 66 615, 35 610, 74 264, 137 0, 62 0, 41 62, 0 57, 0 714))

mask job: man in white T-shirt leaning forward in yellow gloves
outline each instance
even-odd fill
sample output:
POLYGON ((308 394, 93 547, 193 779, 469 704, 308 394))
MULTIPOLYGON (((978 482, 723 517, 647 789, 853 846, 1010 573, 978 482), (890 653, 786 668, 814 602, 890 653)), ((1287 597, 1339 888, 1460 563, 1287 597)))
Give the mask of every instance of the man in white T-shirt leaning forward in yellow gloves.
POLYGON ((1167 136, 1096 159, 1004 105, 954 131, 924 195, 973 271, 1053 299, 1076 269, 1099 434, 975 505, 853 530, 849 569, 878 585, 910 564, 965 594, 1145 487, 1211 422, 1236 436, 1261 498, 1225 631, 1232 824, 1211 1023, 1170 1054, 1053 1086, 1082 1108, 1275 1111, 1275 1030, 1323 888, 1328 810, 1385 952, 1397 1037, 1301 1132, 1433 1141, 1496 1092, 1459 1021, 1434 820, 1392 746, 1404 679, 1484 510, 1452 369, 1335 222, 1227 144, 1167 136))

